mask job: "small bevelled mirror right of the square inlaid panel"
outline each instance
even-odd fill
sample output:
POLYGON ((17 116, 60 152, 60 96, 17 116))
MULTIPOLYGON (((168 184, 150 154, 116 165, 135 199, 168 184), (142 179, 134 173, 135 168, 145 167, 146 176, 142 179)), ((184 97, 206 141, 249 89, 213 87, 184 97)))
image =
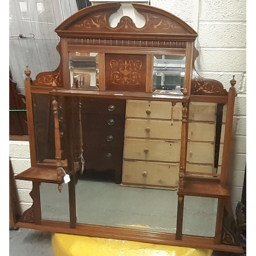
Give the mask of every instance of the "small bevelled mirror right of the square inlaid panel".
POLYGON ((185 56, 154 55, 153 92, 183 91, 185 56))

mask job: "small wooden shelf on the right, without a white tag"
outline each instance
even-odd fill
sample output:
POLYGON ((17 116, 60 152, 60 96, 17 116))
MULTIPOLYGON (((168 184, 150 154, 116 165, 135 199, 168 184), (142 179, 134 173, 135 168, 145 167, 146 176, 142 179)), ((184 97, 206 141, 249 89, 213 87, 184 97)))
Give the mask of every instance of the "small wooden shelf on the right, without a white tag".
POLYGON ((184 188, 178 190, 179 196, 211 197, 228 199, 230 195, 225 186, 219 182, 185 180, 184 188))

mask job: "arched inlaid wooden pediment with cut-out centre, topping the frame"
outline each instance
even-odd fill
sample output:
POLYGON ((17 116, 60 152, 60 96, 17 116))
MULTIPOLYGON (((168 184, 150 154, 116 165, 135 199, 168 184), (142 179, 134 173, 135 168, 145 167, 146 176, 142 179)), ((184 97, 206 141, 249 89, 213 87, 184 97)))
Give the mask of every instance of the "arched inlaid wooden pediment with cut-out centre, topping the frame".
POLYGON ((137 28, 132 18, 123 16, 115 28, 110 26, 110 16, 121 7, 120 3, 94 5, 84 8, 61 23, 55 31, 60 37, 91 37, 97 33, 98 38, 127 38, 132 34, 136 38, 154 38, 154 35, 165 39, 195 40, 197 33, 183 20, 164 10, 132 4, 138 13, 144 16, 145 25, 137 28))

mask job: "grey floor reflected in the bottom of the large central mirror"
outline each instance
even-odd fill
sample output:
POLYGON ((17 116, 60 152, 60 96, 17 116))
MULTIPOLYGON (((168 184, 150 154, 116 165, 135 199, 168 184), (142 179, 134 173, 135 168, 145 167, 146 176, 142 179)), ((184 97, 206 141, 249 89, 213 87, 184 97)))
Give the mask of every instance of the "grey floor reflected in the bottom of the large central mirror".
POLYGON ((177 192, 126 187, 100 175, 78 175, 77 222, 102 226, 176 232, 177 192))

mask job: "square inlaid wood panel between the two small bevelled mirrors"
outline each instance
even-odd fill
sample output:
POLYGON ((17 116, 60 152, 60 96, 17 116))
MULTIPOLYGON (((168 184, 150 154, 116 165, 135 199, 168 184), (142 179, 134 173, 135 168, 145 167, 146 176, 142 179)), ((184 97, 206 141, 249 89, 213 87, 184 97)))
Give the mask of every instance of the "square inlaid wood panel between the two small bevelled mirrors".
POLYGON ((106 90, 145 92, 146 55, 105 54, 106 90))

